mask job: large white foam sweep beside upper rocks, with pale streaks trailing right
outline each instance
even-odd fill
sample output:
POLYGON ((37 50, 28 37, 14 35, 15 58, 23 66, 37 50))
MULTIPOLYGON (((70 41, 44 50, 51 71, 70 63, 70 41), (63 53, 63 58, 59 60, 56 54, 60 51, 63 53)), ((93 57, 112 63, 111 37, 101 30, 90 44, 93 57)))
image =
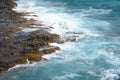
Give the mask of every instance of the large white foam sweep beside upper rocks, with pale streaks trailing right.
MULTIPOLYGON (((55 5, 58 5, 58 3, 50 3, 49 1, 40 1, 39 4, 41 6, 36 6, 35 2, 33 1, 17 1, 19 4, 18 7, 15 9, 16 11, 22 11, 22 12, 34 12, 33 14, 37 15, 38 17, 34 16, 25 16, 27 19, 35 19, 38 20, 39 22, 42 22, 47 27, 52 27, 50 32, 51 33, 56 33, 59 35, 64 35, 66 32, 83 32, 85 35, 91 35, 91 36, 101 36, 99 34, 93 33, 90 29, 85 28, 88 25, 94 26, 104 26, 104 25, 109 25, 108 23, 101 22, 97 20, 89 20, 88 18, 83 19, 82 15, 85 15, 85 13, 109 13, 110 10, 103 10, 103 9, 94 9, 90 7, 88 10, 81 10, 79 11, 80 15, 78 14, 72 14, 70 15, 69 13, 64 13, 64 10, 66 9, 66 4, 59 4, 59 5, 64 5, 64 9, 62 9, 61 12, 57 13, 58 11, 61 10, 61 7, 58 7, 57 9, 55 8, 55 5), (23 4, 22 4, 23 3, 23 4), (25 4, 27 3, 27 4, 25 4), (51 4, 50 8, 46 6, 46 4, 51 4), (29 7, 25 7, 29 6, 29 7), (90 22, 91 21, 91 22, 90 22), (94 23, 93 23, 94 22, 94 23), (94 24, 94 25, 93 25, 94 24), (103 24, 103 25, 102 25, 103 24), (83 26, 83 27, 81 27, 83 26), (84 27, 85 26, 85 27, 84 27)), ((106 28, 106 27, 105 27, 106 28)), ((95 31, 95 30, 94 30, 95 31)), ((79 36, 78 40, 81 37, 79 36)))

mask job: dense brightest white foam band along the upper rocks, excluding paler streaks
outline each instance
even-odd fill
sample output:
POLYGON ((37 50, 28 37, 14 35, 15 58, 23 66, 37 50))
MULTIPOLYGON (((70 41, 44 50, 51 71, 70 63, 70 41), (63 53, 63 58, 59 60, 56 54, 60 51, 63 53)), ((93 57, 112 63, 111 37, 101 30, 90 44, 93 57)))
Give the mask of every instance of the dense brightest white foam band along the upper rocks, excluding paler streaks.
MULTIPOLYGON (((17 2, 19 5, 14 10, 18 12, 34 12, 34 14, 38 15, 38 17, 34 17, 31 15, 31 16, 25 16, 25 18, 27 19, 32 18, 42 22, 42 24, 44 24, 45 26, 53 27, 50 31, 51 33, 63 35, 68 31, 77 30, 79 27, 78 24, 80 25, 82 23, 82 20, 78 21, 73 16, 67 13, 56 13, 55 11, 52 11, 51 8, 53 8, 54 6, 51 7, 50 9, 44 6, 36 7, 35 3, 32 1, 28 1, 28 2, 23 1, 24 3, 27 4, 24 4, 22 1, 20 0, 17 2)), ((57 11, 58 9, 54 9, 54 10, 57 11)))

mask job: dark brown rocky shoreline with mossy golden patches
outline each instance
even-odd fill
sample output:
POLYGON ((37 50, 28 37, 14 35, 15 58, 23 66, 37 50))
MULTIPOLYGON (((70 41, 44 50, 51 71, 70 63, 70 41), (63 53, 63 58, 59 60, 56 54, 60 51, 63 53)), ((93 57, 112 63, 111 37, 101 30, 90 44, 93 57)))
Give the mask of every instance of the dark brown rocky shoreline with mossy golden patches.
POLYGON ((25 27, 41 25, 35 20, 23 18, 28 13, 12 10, 17 4, 13 0, 0 0, 0 72, 6 71, 16 64, 32 63, 42 59, 42 55, 59 50, 50 46, 57 42, 59 35, 51 34, 45 29, 23 32, 25 27))

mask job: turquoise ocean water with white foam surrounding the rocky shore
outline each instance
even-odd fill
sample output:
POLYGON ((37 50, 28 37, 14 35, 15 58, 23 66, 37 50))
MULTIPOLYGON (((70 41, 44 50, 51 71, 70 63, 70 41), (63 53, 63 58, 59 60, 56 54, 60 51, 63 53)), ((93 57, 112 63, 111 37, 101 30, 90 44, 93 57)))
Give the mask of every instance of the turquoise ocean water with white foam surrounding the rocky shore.
POLYGON ((120 80, 120 0, 19 0, 14 9, 52 26, 62 38, 80 33, 75 42, 44 55, 48 60, 21 64, 0 74, 0 80, 120 80), (32 15, 31 14, 31 15, 32 15))

